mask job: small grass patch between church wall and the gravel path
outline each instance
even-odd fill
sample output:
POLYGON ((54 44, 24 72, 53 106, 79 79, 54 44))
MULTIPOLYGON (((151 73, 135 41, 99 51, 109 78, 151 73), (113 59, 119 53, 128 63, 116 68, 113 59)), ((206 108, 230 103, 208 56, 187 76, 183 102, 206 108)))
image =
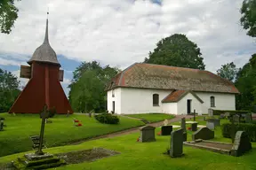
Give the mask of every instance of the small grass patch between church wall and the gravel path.
POLYGON ((144 119, 150 122, 162 121, 165 119, 172 119, 174 118, 171 114, 164 114, 164 113, 141 113, 141 114, 126 114, 125 116, 129 116, 132 118, 144 119))

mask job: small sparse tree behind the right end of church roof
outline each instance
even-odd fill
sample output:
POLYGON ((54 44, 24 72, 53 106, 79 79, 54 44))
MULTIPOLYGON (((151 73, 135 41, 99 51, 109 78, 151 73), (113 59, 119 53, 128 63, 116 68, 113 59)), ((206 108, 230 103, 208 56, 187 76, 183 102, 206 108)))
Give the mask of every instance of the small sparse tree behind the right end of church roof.
POLYGON ((228 81, 235 81, 237 71, 236 65, 231 62, 221 65, 220 69, 217 70, 217 74, 228 81))

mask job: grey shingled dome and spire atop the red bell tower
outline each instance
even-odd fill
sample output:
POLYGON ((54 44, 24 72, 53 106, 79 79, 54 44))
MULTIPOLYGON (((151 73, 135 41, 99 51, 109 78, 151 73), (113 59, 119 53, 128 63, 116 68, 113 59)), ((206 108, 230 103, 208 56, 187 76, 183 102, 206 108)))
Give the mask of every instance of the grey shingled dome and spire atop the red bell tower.
POLYGON ((48 38, 48 19, 46 20, 46 30, 44 35, 44 42, 42 45, 40 45, 35 52, 33 53, 32 58, 28 60, 28 64, 30 65, 32 61, 38 61, 38 62, 46 62, 46 63, 52 63, 57 64, 60 66, 60 63, 57 59, 57 55, 55 51, 52 49, 49 38, 48 38))

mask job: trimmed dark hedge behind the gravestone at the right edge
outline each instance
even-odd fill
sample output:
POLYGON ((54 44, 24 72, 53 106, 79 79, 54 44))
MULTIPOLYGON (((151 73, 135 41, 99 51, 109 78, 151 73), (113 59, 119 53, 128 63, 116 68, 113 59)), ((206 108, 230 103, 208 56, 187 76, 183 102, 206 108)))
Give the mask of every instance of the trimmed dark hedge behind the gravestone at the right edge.
MULTIPOLYGON (((256 142, 256 124, 252 123, 239 123, 234 124, 235 126, 235 132, 237 131, 244 131, 247 135, 249 135, 249 138, 252 142, 256 142)), ((221 125, 221 131, 223 137, 231 138, 231 123, 224 123, 221 125)))

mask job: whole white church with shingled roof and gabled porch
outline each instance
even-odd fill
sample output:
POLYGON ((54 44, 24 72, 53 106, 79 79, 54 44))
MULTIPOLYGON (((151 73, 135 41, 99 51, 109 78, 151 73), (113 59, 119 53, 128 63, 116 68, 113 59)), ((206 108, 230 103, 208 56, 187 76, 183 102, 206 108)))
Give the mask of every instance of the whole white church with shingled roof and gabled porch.
POLYGON ((203 70, 135 63, 109 82, 108 112, 207 113, 236 110, 234 84, 203 70))

